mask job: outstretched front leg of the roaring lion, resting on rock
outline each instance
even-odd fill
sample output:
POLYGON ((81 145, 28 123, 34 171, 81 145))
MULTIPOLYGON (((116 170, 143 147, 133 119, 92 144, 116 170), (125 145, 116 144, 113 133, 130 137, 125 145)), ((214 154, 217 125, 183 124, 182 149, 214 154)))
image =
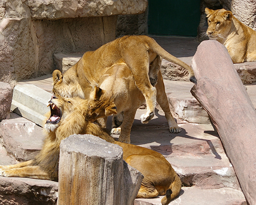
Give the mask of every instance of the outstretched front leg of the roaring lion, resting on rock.
POLYGON ((39 166, 26 166, 20 168, 0 169, 0 175, 4 177, 28 177, 41 180, 52 180, 47 172, 41 170, 39 166))

